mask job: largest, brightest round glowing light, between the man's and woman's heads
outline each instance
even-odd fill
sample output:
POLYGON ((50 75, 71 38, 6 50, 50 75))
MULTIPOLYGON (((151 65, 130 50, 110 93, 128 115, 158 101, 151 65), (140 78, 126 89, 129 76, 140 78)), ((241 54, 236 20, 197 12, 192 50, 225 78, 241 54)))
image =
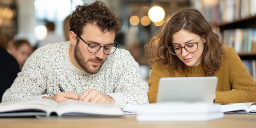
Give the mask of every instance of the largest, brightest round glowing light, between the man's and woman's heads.
POLYGON ((153 22, 159 22, 164 19, 164 9, 159 6, 154 6, 149 9, 148 16, 153 22))

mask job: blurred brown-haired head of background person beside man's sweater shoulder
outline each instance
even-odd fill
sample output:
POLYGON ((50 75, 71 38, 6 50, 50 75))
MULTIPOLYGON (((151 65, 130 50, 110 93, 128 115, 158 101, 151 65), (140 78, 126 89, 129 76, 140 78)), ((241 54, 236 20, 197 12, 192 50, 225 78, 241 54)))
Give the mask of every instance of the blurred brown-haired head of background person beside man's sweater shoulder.
POLYGON ((16 40, 10 47, 10 54, 18 61, 20 70, 22 69, 25 61, 32 54, 33 48, 25 39, 16 40))

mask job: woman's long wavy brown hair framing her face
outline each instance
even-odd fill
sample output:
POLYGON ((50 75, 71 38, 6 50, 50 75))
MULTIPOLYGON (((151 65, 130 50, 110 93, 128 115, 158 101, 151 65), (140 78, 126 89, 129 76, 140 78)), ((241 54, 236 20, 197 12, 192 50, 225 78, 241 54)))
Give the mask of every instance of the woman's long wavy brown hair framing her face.
POLYGON ((200 11, 191 8, 181 9, 168 18, 150 42, 145 45, 149 66, 153 67, 157 62, 169 69, 184 71, 184 63, 168 50, 168 47, 172 45, 173 34, 181 29, 197 34, 206 40, 201 64, 204 65, 206 72, 213 76, 224 54, 219 36, 216 34, 219 28, 207 22, 200 11))

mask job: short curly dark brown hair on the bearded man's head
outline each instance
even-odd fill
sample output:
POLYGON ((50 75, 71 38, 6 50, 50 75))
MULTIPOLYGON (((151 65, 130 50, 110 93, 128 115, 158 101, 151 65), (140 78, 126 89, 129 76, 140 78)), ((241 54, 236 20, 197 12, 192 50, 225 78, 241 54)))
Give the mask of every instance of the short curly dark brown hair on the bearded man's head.
POLYGON ((102 32, 110 31, 117 34, 121 22, 104 2, 95 1, 92 4, 77 5, 70 18, 70 31, 81 35, 85 25, 97 23, 102 32))

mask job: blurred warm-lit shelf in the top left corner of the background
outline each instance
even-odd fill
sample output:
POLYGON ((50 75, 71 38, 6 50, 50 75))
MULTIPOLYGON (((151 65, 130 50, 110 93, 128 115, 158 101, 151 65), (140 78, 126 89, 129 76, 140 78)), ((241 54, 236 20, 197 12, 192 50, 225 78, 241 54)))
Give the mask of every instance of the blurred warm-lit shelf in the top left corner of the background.
POLYGON ((8 36, 17 34, 17 7, 15 0, 0 0, 0 29, 8 36))

